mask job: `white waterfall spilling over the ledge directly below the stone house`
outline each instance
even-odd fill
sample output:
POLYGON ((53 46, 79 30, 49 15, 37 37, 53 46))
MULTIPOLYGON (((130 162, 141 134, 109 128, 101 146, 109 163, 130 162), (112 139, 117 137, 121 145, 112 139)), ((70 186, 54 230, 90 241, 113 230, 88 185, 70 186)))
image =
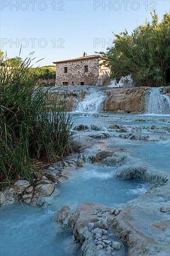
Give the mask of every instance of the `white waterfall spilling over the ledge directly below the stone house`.
POLYGON ((102 91, 93 91, 76 106, 75 112, 98 113, 105 95, 102 91))

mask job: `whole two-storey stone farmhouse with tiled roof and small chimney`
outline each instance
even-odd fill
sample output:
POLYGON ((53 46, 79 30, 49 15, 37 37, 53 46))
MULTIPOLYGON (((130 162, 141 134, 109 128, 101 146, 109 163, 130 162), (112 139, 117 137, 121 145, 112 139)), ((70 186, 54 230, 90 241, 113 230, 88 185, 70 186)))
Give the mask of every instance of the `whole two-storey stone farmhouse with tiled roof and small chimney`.
POLYGON ((63 61, 54 61, 56 64, 56 85, 97 85, 109 84, 110 70, 104 66, 101 55, 87 55, 63 61))

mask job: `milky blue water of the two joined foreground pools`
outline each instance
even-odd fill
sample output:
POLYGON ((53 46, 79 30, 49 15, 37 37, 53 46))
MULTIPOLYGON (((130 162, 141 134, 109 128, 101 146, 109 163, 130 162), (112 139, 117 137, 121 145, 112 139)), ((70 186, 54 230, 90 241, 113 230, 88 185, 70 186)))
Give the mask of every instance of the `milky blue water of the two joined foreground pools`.
POLYGON ((79 245, 72 233, 54 221, 62 206, 76 209, 82 202, 120 205, 145 193, 141 182, 115 178, 115 168, 87 164, 73 170, 68 181, 58 188, 59 194, 48 209, 21 204, 0 209, 1 256, 79 256, 79 245))

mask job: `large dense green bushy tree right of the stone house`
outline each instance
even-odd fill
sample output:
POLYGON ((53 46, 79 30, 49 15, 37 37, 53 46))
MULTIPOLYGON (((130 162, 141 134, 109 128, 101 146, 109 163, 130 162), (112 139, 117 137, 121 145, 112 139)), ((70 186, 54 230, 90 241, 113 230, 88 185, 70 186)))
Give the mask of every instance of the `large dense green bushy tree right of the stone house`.
POLYGON ((131 74, 137 86, 170 85, 170 14, 159 22, 155 12, 152 22, 136 27, 132 34, 125 30, 114 34, 113 46, 101 52, 111 68, 112 77, 131 74))

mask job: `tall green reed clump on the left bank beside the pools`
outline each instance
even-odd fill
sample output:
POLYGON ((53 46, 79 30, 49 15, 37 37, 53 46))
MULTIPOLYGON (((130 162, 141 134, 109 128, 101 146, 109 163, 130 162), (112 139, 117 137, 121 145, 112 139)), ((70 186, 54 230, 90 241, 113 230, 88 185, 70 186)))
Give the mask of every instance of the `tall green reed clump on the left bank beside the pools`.
POLYGON ((32 181, 42 164, 70 150, 71 116, 59 92, 49 102, 49 91, 36 87, 30 72, 32 60, 30 55, 11 69, 0 61, 1 186, 16 179, 32 181))

